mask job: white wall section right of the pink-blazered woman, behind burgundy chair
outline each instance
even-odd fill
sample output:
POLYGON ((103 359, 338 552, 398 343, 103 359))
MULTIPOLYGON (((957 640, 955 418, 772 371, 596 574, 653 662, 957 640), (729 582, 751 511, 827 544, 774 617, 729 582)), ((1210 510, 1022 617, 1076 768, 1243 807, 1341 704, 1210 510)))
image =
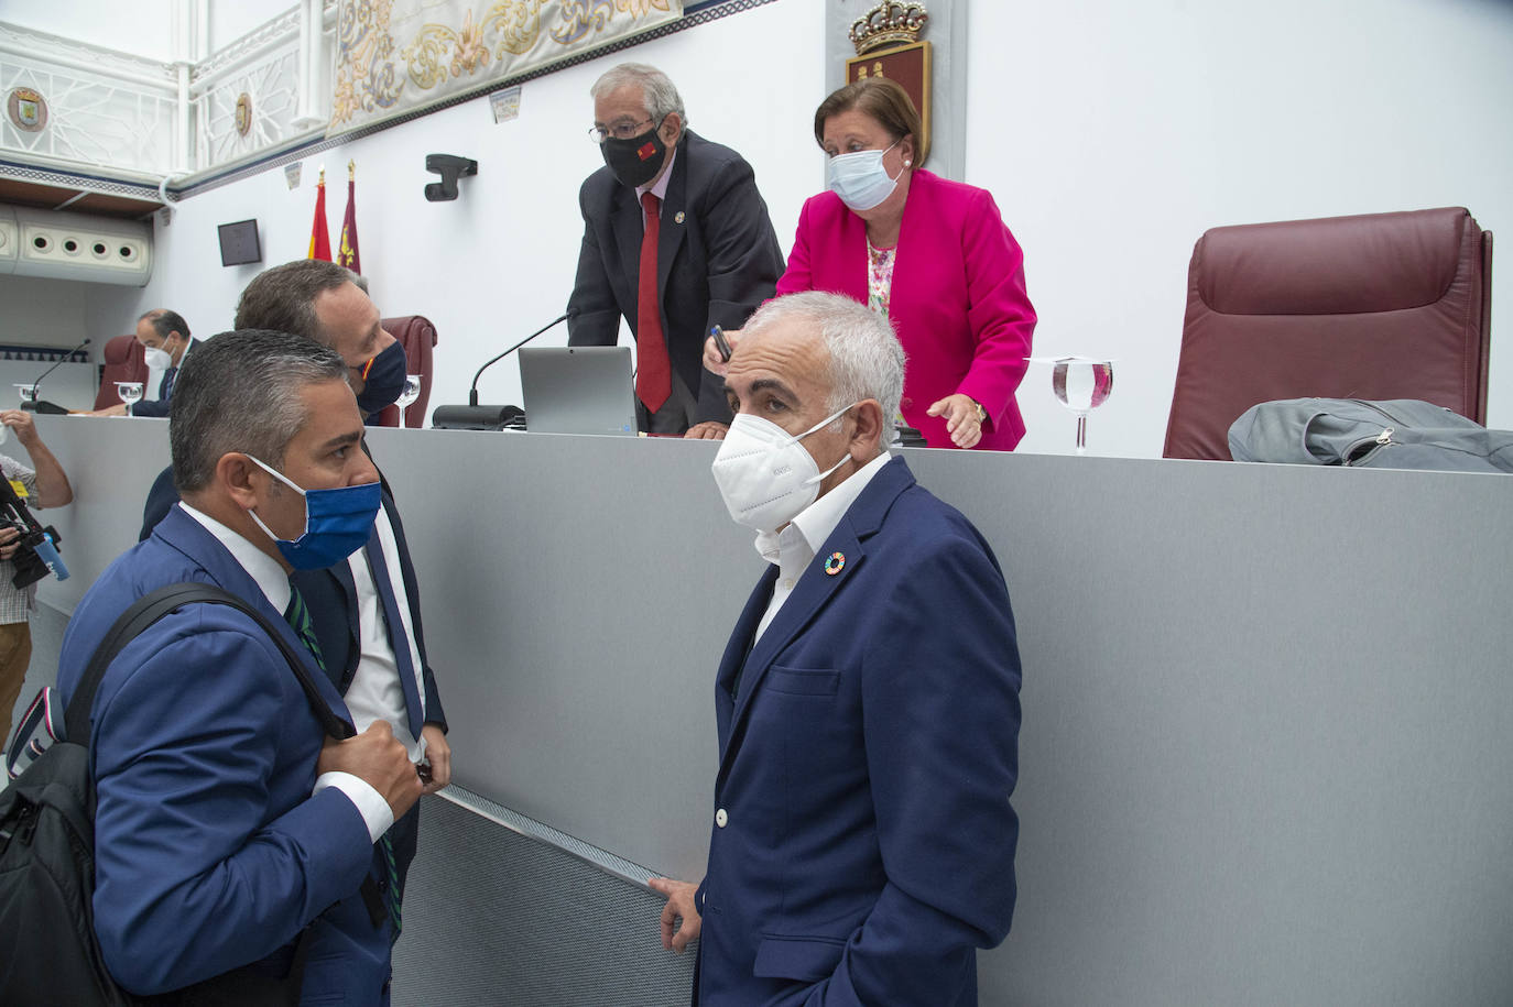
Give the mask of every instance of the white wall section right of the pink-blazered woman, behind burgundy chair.
MULTIPOLYGON (((1466 206, 1513 237, 1513 5, 971 5, 967 175, 1024 245, 1036 352, 1118 358, 1089 451, 1159 455, 1209 227, 1466 206)), ((1513 426, 1513 265, 1493 269, 1489 425, 1513 426)), ((1074 420, 1044 369, 1021 451, 1074 420)))

